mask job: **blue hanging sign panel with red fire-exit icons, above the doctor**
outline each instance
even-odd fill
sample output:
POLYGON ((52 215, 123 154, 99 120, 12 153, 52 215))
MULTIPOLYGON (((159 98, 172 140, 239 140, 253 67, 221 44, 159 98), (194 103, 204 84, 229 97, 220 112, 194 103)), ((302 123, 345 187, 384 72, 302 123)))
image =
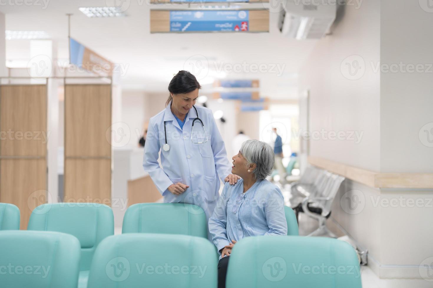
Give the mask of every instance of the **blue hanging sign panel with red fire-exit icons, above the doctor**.
POLYGON ((170 11, 170 31, 248 31, 248 10, 170 11))

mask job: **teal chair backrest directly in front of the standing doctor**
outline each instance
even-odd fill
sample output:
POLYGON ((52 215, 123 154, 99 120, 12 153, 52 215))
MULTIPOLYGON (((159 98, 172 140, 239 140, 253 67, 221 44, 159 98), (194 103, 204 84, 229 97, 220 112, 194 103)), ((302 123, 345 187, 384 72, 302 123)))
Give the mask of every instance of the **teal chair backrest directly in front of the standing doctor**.
POLYGON ((184 203, 139 203, 123 218, 122 233, 183 234, 207 238, 204 210, 184 203))

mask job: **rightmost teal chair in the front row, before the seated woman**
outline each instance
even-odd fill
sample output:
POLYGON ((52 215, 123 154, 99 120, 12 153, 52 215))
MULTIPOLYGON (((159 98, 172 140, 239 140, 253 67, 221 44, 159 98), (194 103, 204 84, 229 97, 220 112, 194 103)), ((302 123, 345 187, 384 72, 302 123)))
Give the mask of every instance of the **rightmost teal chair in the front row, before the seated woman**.
POLYGON ((236 243, 227 288, 361 288, 358 256, 327 237, 246 237, 236 243))

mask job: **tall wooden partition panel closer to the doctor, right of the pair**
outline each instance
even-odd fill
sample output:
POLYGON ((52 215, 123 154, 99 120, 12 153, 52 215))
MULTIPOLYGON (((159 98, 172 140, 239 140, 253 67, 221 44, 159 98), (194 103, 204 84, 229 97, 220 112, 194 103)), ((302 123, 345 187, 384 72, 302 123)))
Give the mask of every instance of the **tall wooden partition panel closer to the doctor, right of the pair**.
POLYGON ((111 200, 111 85, 65 85, 63 201, 111 200))

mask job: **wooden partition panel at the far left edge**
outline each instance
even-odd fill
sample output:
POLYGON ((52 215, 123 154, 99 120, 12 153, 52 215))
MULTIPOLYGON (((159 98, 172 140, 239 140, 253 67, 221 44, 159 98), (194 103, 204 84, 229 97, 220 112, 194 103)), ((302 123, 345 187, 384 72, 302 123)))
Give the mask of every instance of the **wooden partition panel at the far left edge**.
POLYGON ((47 202, 46 85, 0 86, 0 202, 18 206, 20 228, 47 202))

